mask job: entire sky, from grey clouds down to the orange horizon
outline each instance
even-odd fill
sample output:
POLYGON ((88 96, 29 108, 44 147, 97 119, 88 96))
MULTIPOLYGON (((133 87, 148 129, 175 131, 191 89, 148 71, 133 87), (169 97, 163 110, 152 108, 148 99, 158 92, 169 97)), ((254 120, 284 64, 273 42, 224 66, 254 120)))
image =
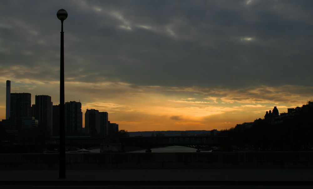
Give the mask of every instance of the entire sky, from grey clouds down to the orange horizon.
POLYGON ((0 119, 11 92, 109 113, 128 131, 234 127, 313 98, 313 1, 0 2, 0 119))

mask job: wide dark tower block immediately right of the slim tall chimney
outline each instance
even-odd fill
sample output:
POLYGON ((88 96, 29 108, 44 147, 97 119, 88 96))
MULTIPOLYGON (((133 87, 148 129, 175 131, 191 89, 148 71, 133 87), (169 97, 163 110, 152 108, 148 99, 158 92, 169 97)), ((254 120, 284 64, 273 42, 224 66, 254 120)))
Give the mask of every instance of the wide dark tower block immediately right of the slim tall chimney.
POLYGON ((12 129, 21 129, 23 117, 31 116, 31 94, 10 94, 10 121, 12 129))

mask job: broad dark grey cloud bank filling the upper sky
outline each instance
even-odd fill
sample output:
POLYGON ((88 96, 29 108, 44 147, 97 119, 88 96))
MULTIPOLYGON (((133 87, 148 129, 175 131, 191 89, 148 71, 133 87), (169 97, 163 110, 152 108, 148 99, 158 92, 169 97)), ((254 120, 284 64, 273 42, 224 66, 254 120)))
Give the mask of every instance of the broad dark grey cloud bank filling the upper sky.
POLYGON ((69 81, 311 86, 311 1, 3 1, 1 69, 59 78, 64 8, 69 81), (14 70, 12 67, 21 70, 14 70), (10 68, 11 67, 11 68, 10 68))

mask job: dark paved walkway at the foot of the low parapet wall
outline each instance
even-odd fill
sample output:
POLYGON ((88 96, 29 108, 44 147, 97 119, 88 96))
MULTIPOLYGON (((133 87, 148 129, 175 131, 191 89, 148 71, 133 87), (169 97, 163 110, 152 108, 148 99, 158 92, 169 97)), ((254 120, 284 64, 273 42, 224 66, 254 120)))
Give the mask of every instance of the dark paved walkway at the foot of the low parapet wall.
POLYGON ((297 181, 312 182, 312 169, 134 169, 67 170, 58 179, 58 170, 0 170, 2 181, 297 181))

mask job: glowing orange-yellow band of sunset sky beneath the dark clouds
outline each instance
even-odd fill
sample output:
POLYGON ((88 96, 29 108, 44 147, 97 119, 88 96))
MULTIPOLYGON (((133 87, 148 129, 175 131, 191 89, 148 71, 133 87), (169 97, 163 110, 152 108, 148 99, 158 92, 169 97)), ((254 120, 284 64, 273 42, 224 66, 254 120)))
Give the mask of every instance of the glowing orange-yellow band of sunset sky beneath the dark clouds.
MULTIPOLYGON (((1 83, 0 119, 4 119, 5 82, 1 83)), ((58 87, 58 82, 12 81, 11 92, 31 93, 32 103, 36 94, 49 95, 55 105, 59 103, 58 87)), ((281 113, 309 100, 309 95, 293 93, 291 88, 301 91, 308 87, 259 86, 231 90, 66 82, 65 101, 82 103, 83 127, 85 109, 89 108, 109 112, 109 120, 128 131, 221 130, 264 118, 273 106, 281 113)))

